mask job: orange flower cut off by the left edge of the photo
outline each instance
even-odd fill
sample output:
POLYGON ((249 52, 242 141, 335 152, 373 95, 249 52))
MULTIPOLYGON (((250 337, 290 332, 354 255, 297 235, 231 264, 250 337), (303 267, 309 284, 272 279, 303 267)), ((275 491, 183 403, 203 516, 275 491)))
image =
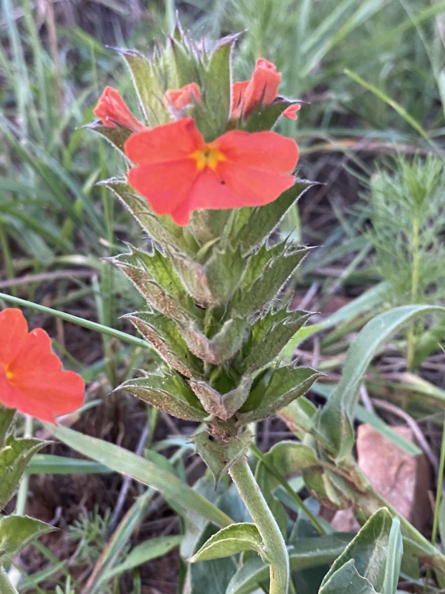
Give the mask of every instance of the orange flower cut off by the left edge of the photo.
POLYGON ((0 402, 42 421, 77 410, 84 403, 84 380, 62 371, 45 330, 28 333, 20 309, 0 312, 0 402))

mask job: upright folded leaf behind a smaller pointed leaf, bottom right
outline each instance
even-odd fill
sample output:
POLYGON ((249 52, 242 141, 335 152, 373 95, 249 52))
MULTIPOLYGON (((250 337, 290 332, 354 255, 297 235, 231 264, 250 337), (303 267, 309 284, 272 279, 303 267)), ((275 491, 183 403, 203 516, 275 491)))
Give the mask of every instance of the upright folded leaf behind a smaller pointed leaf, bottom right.
MULTIPOLYGON (((388 545, 391 526, 392 517, 389 511, 386 508, 376 511, 361 528, 357 536, 352 539, 344 552, 342 552, 342 554, 334 561, 332 567, 323 579, 320 593, 323 592, 323 594, 325 594, 325 592, 335 591, 332 588, 332 583, 339 583, 338 580, 340 577, 343 579, 343 576, 340 573, 338 573, 334 582, 331 582, 331 585, 327 590, 324 590, 323 587, 328 585, 331 577, 333 577, 344 565, 348 564, 348 569, 345 570, 345 574, 351 576, 355 575, 354 572, 349 569, 349 567, 351 567, 351 562, 352 568, 357 570, 357 575, 359 577, 368 580, 377 592, 382 592, 386 571, 386 560, 389 552, 388 545)), ((362 583, 358 579, 356 581, 362 583)), ((355 592, 355 590, 353 591, 355 592)))

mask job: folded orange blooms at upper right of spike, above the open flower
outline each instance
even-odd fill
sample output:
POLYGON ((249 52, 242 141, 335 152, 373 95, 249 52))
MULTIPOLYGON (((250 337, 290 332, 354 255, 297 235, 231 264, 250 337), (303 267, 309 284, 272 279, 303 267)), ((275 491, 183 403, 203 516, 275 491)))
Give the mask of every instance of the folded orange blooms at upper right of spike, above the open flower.
MULTIPOLYGON (((278 96, 280 81, 281 72, 276 72, 275 64, 264 58, 258 58, 252 78, 233 83, 231 119, 239 119, 241 115, 246 119, 260 103, 263 107, 270 105, 278 96)), ((300 105, 295 103, 285 109, 282 115, 297 119, 295 112, 298 109, 300 105)))

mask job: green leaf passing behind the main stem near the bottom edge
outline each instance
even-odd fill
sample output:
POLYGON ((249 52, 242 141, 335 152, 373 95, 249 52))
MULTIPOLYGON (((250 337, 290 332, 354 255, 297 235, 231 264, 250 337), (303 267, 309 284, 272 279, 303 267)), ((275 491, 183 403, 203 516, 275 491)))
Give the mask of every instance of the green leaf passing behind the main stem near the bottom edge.
MULTIPOLYGON (((299 539, 293 546, 289 547, 291 571, 332 563, 344 551, 350 539, 349 534, 342 533, 299 539)), ((269 566, 265 565, 259 557, 253 557, 244 563, 233 576, 227 587, 226 594, 250 594, 255 592, 260 583, 268 581, 268 577, 269 566)))

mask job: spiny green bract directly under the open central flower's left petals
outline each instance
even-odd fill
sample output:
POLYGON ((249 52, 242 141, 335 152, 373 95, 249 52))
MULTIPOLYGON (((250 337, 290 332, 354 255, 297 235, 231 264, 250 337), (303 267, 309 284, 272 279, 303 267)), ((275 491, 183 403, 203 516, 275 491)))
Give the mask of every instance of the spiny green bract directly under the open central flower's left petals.
POLYGON ((195 239, 187 234, 185 228, 175 225, 169 215, 155 214, 147 200, 137 194, 128 185, 126 179, 112 178, 100 182, 105 185, 122 201, 131 214, 141 225, 142 229, 158 244, 175 249, 177 252, 193 256, 199 249, 195 239))

